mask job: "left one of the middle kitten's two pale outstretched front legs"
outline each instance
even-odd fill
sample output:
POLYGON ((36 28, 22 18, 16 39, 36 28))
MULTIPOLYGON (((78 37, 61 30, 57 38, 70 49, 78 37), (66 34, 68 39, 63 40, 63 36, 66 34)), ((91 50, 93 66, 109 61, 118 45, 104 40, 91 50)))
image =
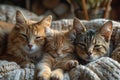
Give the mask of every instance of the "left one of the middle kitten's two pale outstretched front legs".
POLYGON ((41 63, 36 68, 36 80, 49 80, 51 74, 51 68, 45 64, 41 63))

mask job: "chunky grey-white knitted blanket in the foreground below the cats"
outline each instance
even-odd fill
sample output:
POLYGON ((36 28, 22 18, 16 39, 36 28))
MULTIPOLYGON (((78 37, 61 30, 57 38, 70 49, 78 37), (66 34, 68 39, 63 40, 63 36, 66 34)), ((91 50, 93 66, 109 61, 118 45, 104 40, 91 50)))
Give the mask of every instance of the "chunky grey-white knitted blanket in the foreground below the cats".
MULTIPOLYGON (((120 64, 109 57, 102 57, 87 65, 78 65, 68 74, 64 80, 120 80, 120 64)), ((21 69, 15 62, 0 61, 0 80, 33 79, 33 69, 21 69)))

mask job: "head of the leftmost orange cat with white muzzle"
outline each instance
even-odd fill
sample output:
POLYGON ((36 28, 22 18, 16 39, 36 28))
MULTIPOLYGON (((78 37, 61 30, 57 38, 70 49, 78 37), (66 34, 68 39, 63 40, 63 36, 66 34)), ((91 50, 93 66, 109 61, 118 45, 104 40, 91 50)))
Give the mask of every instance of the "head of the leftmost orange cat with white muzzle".
POLYGON ((44 27, 50 27, 52 16, 47 16, 41 21, 28 20, 21 11, 16 12, 16 25, 10 33, 9 43, 32 54, 42 48, 44 44, 44 27))

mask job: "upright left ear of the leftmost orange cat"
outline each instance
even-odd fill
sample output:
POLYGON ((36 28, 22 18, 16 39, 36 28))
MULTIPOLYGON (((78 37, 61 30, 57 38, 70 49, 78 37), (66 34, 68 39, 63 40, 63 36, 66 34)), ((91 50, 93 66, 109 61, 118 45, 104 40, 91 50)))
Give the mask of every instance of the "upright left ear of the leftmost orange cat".
POLYGON ((26 18, 20 10, 16 11, 16 23, 23 24, 26 22, 26 18))

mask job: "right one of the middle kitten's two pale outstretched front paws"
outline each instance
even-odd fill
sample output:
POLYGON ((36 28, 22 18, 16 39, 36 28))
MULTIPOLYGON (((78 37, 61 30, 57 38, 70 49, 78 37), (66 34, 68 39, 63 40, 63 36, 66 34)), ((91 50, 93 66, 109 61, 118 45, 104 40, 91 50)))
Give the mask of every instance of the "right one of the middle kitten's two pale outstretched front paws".
POLYGON ((63 80, 64 77, 64 71, 62 69, 55 69, 51 73, 50 80, 63 80))

